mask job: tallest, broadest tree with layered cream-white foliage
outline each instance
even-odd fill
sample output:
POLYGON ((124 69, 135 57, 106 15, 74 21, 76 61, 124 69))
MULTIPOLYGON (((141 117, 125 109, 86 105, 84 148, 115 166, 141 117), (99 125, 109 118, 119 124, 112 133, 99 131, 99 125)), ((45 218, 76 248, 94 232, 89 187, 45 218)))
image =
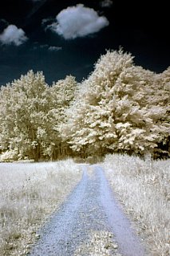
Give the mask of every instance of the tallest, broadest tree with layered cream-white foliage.
POLYGON ((167 99, 161 86, 154 72, 135 66, 131 54, 107 51, 81 83, 62 134, 75 151, 90 154, 152 151, 169 134, 167 117, 162 122, 167 107, 154 100, 158 94, 167 99))

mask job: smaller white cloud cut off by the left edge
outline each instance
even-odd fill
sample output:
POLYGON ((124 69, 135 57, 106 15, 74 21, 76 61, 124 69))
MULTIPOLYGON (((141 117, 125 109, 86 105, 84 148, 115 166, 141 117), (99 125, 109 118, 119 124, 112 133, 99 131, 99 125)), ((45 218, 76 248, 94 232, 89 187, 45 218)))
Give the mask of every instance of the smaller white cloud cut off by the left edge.
POLYGON ((14 44, 19 46, 25 43, 27 39, 24 30, 15 25, 7 26, 0 35, 0 42, 2 44, 14 44))

